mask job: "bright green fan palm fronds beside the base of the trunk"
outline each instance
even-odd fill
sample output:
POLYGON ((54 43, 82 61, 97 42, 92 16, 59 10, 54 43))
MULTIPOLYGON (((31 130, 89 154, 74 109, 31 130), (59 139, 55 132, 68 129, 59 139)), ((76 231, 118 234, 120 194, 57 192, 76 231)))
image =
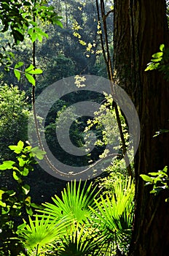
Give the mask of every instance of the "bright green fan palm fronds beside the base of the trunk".
POLYGON ((104 236, 104 255, 113 255, 109 252, 112 247, 125 251, 130 243, 131 229, 133 225, 134 183, 131 178, 114 181, 113 195, 101 196, 101 200, 95 201, 97 208, 90 209, 95 215, 95 225, 104 236))

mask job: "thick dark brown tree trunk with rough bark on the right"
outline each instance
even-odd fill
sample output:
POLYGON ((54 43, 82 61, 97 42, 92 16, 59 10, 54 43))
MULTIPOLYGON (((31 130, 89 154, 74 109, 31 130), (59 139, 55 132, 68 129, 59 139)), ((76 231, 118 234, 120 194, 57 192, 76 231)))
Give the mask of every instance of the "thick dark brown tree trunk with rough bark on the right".
POLYGON ((141 122, 141 140, 135 156, 135 219, 131 256, 168 255, 169 203, 144 187, 140 174, 169 167, 169 84, 158 71, 145 72, 160 44, 168 46, 165 0, 114 1, 114 69, 116 79, 133 99, 141 122))

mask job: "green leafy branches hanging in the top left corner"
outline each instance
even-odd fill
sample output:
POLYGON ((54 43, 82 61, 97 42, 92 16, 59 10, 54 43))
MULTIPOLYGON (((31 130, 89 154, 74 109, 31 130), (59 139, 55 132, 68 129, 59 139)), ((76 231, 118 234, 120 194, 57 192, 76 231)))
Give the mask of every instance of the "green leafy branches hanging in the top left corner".
POLYGON ((23 67, 23 62, 18 62, 15 67, 11 67, 12 59, 15 58, 11 49, 15 48, 20 42, 28 37, 33 45, 36 40, 42 42, 43 37, 48 35, 39 27, 38 20, 41 22, 50 22, 62 27, 60 16, 55 13, 55 8, 47 4, 47 1, 2 1, 0 6, 0 20, 3 26, 2 33, 10 31, 14 42, 8 44, 9 50, 3 47, 4 53, 0 54, 0 63, 5 66, 5 69, 14 69, 17 80, 20 80, 20 73, 25 75, 28 82, 35 86, 34 75, 42 74, 42 69, 36 69, 33 64, 26 67, 24 71, 20 70, 23 67), (12 59, 11 59, 12 57, 12 59))

